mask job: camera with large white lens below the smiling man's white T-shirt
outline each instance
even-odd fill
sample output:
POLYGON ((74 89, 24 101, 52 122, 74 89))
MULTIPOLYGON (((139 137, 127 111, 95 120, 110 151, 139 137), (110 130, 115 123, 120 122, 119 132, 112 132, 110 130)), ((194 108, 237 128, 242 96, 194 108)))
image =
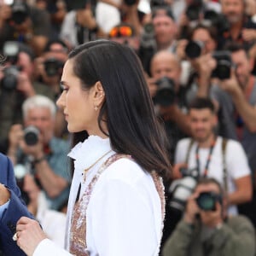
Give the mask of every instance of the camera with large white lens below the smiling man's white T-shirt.
POLYGON ((195 189, 199 173, 196 168, 181 168, 180 172, 182 173, 183 177, 173 181, 169 188, 169 191, 172 194, 169 207, 171 207, 173 210, 183 212, 189 196, 195 189))

